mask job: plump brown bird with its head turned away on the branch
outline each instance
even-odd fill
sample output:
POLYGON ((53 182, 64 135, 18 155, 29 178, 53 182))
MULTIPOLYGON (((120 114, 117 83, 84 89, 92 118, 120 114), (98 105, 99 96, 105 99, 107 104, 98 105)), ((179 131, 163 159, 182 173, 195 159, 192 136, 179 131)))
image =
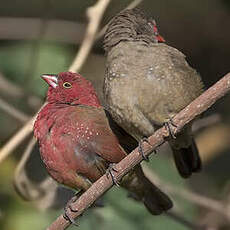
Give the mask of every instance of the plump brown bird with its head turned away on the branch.
MULTIPOLYGON (((184 54, 164 42, 156 22, 138 8, 116 15, 105 34, 105 101, 113 119, 137 141, 152 135, 203 91, 184 54)), ((169 144, 182 177, 201 170, 191 125, 169 144)))

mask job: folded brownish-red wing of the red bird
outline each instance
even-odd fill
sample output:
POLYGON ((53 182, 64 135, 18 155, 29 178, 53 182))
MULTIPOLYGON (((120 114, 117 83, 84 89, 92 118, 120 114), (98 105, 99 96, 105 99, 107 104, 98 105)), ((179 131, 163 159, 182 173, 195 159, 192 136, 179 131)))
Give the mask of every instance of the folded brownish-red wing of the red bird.
POLYGON ((88 150, 109 163, 117 163, 126 156, 110 129, 103 107, 77 106, 75 116, 78 122, 83 124, 84 137, 79 137, 79 140, 83 145, 87 145, 88 150))

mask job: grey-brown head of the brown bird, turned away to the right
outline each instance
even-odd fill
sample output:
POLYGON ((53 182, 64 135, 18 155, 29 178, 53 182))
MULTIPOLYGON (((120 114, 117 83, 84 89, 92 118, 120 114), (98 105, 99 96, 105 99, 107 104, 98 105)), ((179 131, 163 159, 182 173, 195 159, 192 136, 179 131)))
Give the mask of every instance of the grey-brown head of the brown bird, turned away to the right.
POLYGON ((105 51, 121 41, 143 41, 147 44, 165 42, 155 20, 147 17, 139 8, 123 10, 109 22, 104 37, 105 51))

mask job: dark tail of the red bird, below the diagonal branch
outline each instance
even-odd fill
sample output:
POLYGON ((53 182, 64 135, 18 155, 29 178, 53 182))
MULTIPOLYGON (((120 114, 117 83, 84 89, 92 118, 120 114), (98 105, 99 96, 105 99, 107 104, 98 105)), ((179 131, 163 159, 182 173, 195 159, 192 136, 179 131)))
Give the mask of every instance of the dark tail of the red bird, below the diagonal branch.
POLYGON ((144 175, 140 165, 123 178, 121 185, 132 198, 142 201, 152 215, 160 215, 173 206, 170 198, 144 175))

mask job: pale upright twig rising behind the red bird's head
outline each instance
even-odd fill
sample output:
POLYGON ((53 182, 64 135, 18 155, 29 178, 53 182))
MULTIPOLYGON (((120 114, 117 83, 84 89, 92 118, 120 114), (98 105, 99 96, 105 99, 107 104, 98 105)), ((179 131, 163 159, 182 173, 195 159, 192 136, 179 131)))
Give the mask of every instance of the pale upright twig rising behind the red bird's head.
POLYGON ((79 72, 81 66, 88 57, 93 42, 95 40, 95 35, 97 33, 101 18, 109 3, 110 0, 99 0, 94 6, 87 9, 89 24, 81 48, 78 51, 78 55, 76 56, 72 65, 69 68, 70 71, 79 72))

